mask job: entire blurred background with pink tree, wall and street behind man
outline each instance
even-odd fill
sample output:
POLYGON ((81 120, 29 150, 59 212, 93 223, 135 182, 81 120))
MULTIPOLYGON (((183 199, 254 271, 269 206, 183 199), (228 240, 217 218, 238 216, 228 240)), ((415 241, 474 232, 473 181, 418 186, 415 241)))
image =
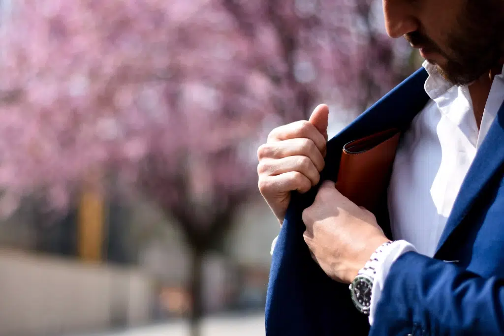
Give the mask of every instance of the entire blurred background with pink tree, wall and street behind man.
POLYGON ((0 0, 0 336, 264 335, 257 148, 418 66, 376 0, 0 0))

